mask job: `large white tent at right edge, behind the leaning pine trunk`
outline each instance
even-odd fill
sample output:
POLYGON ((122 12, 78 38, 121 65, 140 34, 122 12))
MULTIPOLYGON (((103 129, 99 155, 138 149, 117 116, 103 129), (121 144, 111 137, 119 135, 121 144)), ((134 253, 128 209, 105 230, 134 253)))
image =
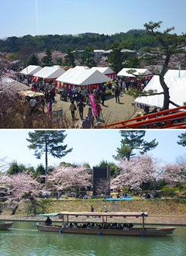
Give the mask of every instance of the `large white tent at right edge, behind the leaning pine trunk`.
MULTIPOLYGON (((184 102, 186 102, 186 78, 164 77, 164 81, 169 88, 170 100, 176 103, 178 106, 183 106, 184 102)), ((158 75, 154 75, 150 82, 143 89, 143 91, 146 92, 149 90, 164 92, 160 85, 160 78, 158 75)), ((134 102, 162 109, 164 107, 164 95, 141 96, 137 97, 134 102)), ((169 109, 173 109, 175 107, 176 106, 172 104, 169 105, 169 109)))

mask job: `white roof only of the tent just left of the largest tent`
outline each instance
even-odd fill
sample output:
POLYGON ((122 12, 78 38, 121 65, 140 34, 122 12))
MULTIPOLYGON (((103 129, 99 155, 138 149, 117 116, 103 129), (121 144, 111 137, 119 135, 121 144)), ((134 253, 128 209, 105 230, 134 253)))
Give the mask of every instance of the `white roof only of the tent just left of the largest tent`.
POLYGON ((38 78, 59 78, 61 74, 64 74, 64 71, 61 67, 43 67, 40 71, 34 74, 35 77, 38 78))

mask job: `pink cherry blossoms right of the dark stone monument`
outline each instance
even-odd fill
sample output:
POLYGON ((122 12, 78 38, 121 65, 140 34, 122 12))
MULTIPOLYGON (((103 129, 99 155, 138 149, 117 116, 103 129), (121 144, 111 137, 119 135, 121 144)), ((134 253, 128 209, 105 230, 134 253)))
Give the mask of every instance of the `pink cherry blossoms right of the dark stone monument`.
POLYGON ((120 159, 118 167, 120 174, 112 179, 111 188, 129 186, 131 189, 140 189, 143 182, 150 182, 154 195, 157 192, 157 182, 166 181, 170 185, 181 182, 180 165, 174 163, 162 163, 158 158, 144 154, 127 161, 120 159))

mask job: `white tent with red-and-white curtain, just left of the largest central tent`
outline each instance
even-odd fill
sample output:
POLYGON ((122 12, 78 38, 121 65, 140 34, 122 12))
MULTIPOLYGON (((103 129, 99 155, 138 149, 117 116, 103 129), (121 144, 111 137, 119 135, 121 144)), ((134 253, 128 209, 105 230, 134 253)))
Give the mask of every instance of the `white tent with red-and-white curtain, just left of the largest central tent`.
POLYGON ((61 67, 43 67, 40 71, 36 72, 33 75, 33 81, 38 81, 40 78, 43 78, 45 81, 54 82, 61 74, 64 74, 64 71, 61 67))

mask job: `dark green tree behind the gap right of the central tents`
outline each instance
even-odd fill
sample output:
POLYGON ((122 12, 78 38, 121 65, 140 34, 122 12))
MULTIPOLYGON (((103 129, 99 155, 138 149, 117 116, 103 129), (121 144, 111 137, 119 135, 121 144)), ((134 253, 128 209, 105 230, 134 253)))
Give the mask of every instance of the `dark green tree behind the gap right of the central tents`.
POLYGON ((112 51, 108 57, 108 61, 111 64, 110 67, 115 71, 116 74, 124 67, 124 61, 126 61, 128 54, 122 54, 122 48, 119 47, 119 43, 113 43, 111 47, 112 51))

